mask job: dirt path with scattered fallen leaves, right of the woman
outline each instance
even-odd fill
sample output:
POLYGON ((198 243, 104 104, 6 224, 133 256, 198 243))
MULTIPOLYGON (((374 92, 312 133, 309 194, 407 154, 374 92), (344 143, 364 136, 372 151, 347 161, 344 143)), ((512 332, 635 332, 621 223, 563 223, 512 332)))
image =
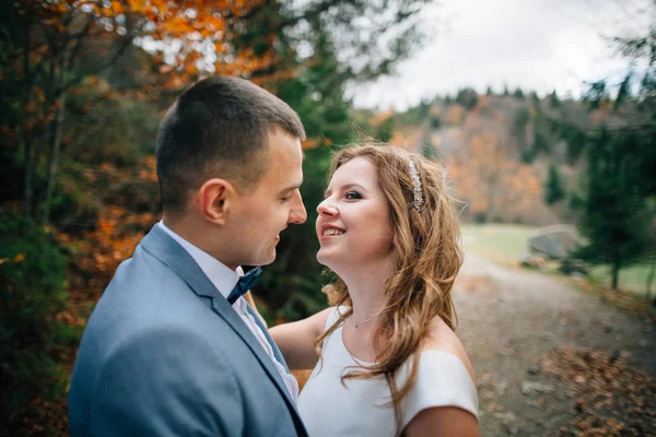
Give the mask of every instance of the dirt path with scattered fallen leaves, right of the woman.
MULTIPOLYGON (((588 412, 585 418, 586 410, 594 405, 581 393, 586 392, 586 387, 606 390, 611 402, 623 397, 623 390, 629 398, 635 395, 635 390, 644 389, 629 387, 632 382, 621 380, 626 368, 656 375, 654 327, 582 293, 563 279, 504 268, 468 251, 456 282, 455 300, 458 334, 477 373, 484 436, 575 435, 584 426, 587 429, 583 435, 607 435, 609 426, 621 429, 625 424, 611 421, 609 425, 608 421, 595 418, 598 411, 588 412), (575 353, 587 349, 574 380, 559 367, 566 354, 554 353, 557 347, 575 353), (611 369, 605 367, 600 370, 604 377, 594 379, 584 367, 600 359, 611 369), (613 389, 598 387, 601 383, 613 389), (572 425, 576 421, 578 429, 572 425)), ((644 380, 636 383, 641 381, 644 380)), ((654 408, 652 381, 647 382, 645 400, 652 405, 641 404, 641 409, 654 408)), ((599 397, 594 391, 589 393, 599 397)), ((606 408, 612 410, 613 405, 617 402, 606 408)), ((622 405, 628 415, 648 422, 637 424, 639 429, 656 429, 654 416, 637 408, 630 410, 631 400, 622 405)))

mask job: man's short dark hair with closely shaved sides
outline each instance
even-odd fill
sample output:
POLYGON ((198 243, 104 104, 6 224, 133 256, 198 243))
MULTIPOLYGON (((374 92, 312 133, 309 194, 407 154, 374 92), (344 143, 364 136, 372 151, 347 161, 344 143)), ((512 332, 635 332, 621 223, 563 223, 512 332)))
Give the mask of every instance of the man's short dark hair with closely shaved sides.
POLYGON ((298 115, 263 88, 229 76, 196 83, 168 109, 157 132, 164 210, 184 212, 189 192, 212 177, 254 190, 267 168, 269 134, 277 129, 305 140, 298 115))

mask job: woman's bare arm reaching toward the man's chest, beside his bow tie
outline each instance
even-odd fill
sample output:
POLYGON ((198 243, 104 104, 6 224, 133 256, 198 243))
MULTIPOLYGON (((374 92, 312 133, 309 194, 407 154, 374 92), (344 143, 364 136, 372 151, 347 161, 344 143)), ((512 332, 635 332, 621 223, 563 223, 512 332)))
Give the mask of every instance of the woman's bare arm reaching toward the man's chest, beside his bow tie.
POLYGON ((317 364, 314 342, 324 333, 331 310, 333 308, 327 308, 306 319, 269 329, 290 369, 307 370, 317 364))

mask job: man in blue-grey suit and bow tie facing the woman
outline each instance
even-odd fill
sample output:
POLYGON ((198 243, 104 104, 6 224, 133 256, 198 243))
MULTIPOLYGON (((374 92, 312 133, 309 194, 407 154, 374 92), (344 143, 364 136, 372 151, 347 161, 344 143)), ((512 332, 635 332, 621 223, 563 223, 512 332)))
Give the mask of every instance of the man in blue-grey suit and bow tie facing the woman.
POLYGON ((305 222, 303 125, 235 78, 206 79, 157 134, 162 222, 86 326, 69 392, 79 436, 306 436, 298 386, 242 293, 305 222))

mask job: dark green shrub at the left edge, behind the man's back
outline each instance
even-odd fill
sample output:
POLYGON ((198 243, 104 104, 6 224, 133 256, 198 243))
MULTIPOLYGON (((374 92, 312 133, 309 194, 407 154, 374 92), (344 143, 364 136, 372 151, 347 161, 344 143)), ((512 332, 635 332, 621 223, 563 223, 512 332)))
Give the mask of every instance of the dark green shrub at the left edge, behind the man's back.
POLYGON ((66 302, 66 258, 33 221, 1 210, 0 241, 0 423, 11 427, 32 400, 62 392, 50 354, 60 332, 54 316, 66 302))

